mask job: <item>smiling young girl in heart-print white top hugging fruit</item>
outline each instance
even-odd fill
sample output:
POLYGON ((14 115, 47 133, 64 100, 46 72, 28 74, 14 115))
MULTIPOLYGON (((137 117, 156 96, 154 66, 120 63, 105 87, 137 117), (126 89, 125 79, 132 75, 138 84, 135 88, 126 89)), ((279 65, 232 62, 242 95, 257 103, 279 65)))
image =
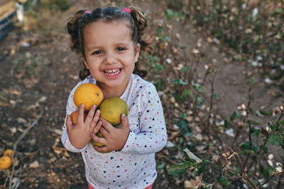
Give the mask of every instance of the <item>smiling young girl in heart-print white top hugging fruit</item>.
POLYGON ((62 144, 81 152, 89 188, 151 188, 157 176, 155 152, 163 149, 167 134, 158 93, 153 84, 141 79, 146 71, 138 64, 141 52, 152 52, 146 26, 143 12, 136 7, 82 10, 68 19, 70 47, 82 57, 84 69, 82 81, 67 101, 62 144), (121 115, 121 127, 99 118, 95 105, 85 120, 84 105, 80 105, 73 125, 70 114, 78 108, 72 96, 84 83, 97 84, 105 99, 126 101, 129 115, 121 115), (98 131, 103 138, 96 136, 98 131), (92 147, 92 139, 104 146, 92 147))

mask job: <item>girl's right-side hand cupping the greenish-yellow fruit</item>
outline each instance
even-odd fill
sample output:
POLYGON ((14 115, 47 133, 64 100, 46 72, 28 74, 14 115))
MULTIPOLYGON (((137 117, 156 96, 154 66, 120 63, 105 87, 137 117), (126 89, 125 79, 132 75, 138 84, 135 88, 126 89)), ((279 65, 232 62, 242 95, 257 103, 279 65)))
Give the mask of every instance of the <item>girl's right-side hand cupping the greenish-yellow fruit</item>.
POLYGON ((114 150, 121 150, 129 137, 129 119, 124 114, 121 114, 121 127, 112 126, 107 120, 100 118, 102 125, 100 131, 104 137, 97 137, 96 134, 92 133, 92 139, 99 144, 103 144, 102 147, 94 147, 97 151, 107 152, 114 150))

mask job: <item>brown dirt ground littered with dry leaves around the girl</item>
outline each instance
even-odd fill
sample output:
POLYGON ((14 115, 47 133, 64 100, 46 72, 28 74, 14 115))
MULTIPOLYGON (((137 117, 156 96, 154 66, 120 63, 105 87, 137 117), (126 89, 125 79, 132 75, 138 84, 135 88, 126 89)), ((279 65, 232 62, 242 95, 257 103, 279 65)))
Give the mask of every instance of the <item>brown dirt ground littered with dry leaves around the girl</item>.
MULTIPOLYGON (((43 35, 16 28, 0 43, 1 56, 11 51, 11 55, 0 63, 0 154, 5 149, 13 149, 21 134, 32 126, 16 146, 14 176, 19 178, 19 188, 87 188, 81 155, 65 151, 60 142, 67 97, 80 81, 80 65, 77 57, 70 52, 64 24, 77 9, 92 8, 98 4, 105 6, 110 3, 72 1, 67 11, 56 15, 59 30, 43 35)), ((155 13, 163 12, 165 3, 145 0, 140 1, 139 6, 148 9, 153 21, 162 19, 158 16, 163 14, 155 13)), ((191 25, 176 25, 174 31, 181 34, 188 52, 196 47, 198 40, 202 42, 205 62, 217 60, 220 71, 215 79, 215 90, 220 96, 226 96, 218 104, 217 111, 227 118, 231 110, 246 102, 244 85, 247 68, 239 63, 226 62, 226 57, 217 47, 207 42, 191 25)), ((261 105, 271 109, 283 103, 278 88, 265 84, 261 76, 257 79, 253 88, 256 94, 253 108, 259 109, 261 105)), ((166 172, 168 165, 177 163, 176 155, 175 148, 165 148, 157 153, 157 164, 166 166, 158 170, 153 188, 183 188, 186 178, 177 178, 166 172)), ((16 183, 15 178, 13 183, 16 183)), ((9 178, 1 172, 0 188, 8 188, 8 185, 9 178)))

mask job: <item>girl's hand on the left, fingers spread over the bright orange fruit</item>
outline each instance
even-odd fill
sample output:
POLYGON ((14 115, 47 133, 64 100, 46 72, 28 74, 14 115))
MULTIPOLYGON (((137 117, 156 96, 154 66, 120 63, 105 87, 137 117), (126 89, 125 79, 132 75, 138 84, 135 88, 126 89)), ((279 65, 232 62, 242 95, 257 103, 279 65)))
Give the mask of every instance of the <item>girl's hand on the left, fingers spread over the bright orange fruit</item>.
POLYGON ((99 121, 100 111, 97 110, 94 114, 95 110, 96 105, 92 105, 84 120, 84 104, 80 105, 76 125, 73 125, 71 116, 67 115, 67 133, 73 147, 77 149, 85 147, 92 139, 91 133, 99 132, 102 127, 102 121, 99 121))

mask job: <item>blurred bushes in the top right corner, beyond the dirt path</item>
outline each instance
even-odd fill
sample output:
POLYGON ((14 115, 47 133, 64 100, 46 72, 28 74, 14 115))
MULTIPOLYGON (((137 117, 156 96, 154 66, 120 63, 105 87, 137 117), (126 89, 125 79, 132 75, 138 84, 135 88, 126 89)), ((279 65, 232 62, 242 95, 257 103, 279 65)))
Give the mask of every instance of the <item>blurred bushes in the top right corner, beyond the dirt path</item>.
POLYGON ((222 44, 223 52, 258 67, 284 88, 283 1, 194 0, 187 1, 183 12, 190 23, 222 44))

